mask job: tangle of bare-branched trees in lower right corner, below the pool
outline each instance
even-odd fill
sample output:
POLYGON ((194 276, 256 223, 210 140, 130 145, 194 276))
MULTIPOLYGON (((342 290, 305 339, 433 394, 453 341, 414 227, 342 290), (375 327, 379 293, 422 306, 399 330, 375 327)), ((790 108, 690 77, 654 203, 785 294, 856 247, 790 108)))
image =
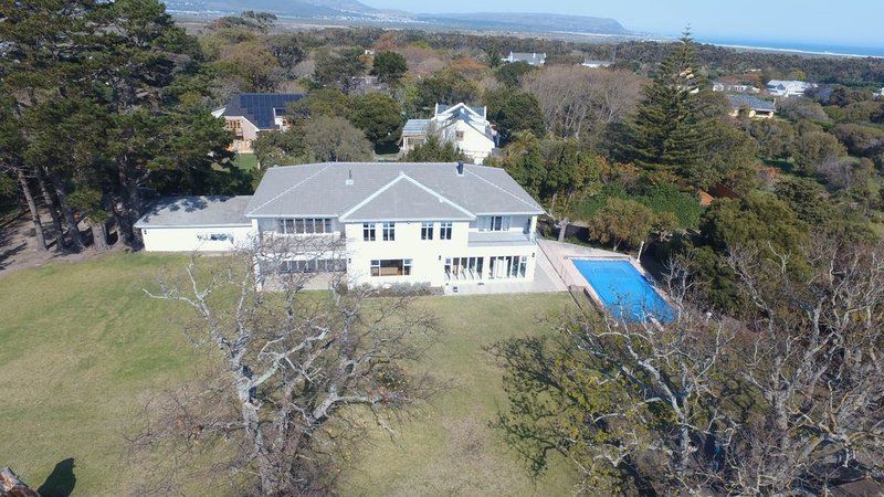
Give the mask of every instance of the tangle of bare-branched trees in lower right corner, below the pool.
POLYGON ((884 242, 819 234, 728 261, 756 308, 741 320, 697 310, 676 264, 669 322, 567 317, 551 346, 495 349, 512 403, 498 424, 535 470, 560 452, 593 488, 663 495, 824 495, 884 477, 884 242))

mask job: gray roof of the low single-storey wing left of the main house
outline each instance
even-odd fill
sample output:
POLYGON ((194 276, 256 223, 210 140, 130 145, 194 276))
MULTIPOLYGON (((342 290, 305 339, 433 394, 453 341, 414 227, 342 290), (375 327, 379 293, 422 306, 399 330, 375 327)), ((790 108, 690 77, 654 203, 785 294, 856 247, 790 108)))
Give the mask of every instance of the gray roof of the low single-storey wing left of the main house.
POLYGON ((239 226, 252 224, 245 207, 252 199, 241 197, 164 197, 154 202, 135 228, 239 226))

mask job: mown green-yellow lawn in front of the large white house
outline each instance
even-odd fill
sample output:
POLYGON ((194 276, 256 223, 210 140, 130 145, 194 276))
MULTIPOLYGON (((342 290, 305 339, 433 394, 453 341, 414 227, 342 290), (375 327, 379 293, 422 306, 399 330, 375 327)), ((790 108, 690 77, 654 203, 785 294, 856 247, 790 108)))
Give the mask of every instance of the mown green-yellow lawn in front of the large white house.
MULTIPOLYGON (((124 434, 145 400, 192 373, 196 356, 178 329, 183 308, 143 288, 180 257, 108 255, 0 278, 0 465, 31 485, 53 474, 57 495, 128 493, 137 479, 124 434), (65 464, 73 459, 73 478, 65 464), (53 468, 60 465, 62 472, 53 468)), ((533 482, 488 426, 505 405, 501 374, 483 346, 541 332, 541 314, 567 294, 428 297, 444 335, 418 364, 454 388, 397 426, 371 433, 341 480, 345 495, 567 494, 566 464, 533 482)))

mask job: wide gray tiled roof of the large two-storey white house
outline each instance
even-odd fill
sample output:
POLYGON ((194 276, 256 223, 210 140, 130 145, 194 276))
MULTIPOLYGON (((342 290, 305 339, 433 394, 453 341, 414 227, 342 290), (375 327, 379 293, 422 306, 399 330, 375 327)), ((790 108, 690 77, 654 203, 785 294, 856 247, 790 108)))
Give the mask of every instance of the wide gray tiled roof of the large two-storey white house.
POLYGON ((466 165, 464 175, 459 176, 452 162, 324 162, 270 168, 245 212, 255 218, 337 218, 360 204, 365 212, 351 213, 360 219, 472 218, 460 209, 452 210, 452 204, 472 215, 544 212, 503 169, 466 165), (397 180, 401 175, 411 180, 411 186, 419 187, 400 186, 397 180), (352 184, 347 184, 348 178, 352 184), (385 187, 389 194, 378 193, 385 187), (444 201, 440 202, 439 197, 444 201))

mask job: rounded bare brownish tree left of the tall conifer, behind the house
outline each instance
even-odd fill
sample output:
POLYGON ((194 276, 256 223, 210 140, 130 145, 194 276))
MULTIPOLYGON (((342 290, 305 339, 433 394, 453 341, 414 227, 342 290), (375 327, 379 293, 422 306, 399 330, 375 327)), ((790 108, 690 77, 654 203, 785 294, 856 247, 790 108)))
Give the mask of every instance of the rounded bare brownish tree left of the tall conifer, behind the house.
POLYGON ((526 74, 522 86, 537 98, 552 133, 580 137, 598 135, 606 125, 629 115, 642 84, 629 71, 557 66, 526 74))

